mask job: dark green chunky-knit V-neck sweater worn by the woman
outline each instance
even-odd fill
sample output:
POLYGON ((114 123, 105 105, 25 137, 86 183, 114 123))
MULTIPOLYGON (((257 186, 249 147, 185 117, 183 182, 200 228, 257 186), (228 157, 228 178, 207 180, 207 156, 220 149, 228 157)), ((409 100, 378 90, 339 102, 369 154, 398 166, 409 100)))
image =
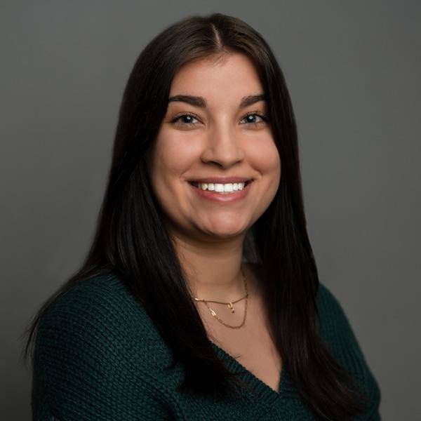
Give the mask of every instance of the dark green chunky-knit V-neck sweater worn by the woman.
MULTIPOLYGON (((322 283, 316 304, 330 352, 372 401, 358 420, 380 420, 375 377, 340 303, 322 283)), ((230 370, 243 369, 211 344, 230 370)), ((285 368, 279 394, 246 370, 241 378, 254 392, 221 402, 177 392, 183 371, 180 364, 165 371, 171 361, 171 350, 144 307, 119 279, 83 281, 41 317, 34 348, 33 420, 316 420, 285 368)))

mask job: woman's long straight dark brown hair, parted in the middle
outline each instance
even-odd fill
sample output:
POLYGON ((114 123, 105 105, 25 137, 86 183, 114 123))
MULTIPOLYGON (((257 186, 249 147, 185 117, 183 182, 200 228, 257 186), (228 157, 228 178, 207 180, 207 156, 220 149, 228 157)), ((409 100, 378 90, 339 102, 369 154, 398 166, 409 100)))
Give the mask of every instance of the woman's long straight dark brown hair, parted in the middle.
POLYGON ((303 401, 321 420, 348 420, 363 412, 364 396, 328 352, 317 327, 319 278, 307 236, 298 136, 286 83, 265 39, 242 20, 220 13, 190 16, 166 27, 135 62, 123 94, 93 244, 81 269, 44 302, 29 324, 23 359, 29 349, 33 357, 36 325, 52 302, 76 283, 112 273, 145 306, 173 351, 173 366, 184 363, 180 390, 213 396, 232 392, 229 371, 215 355, 189 295, 146 165, 176 72, 194 60, 230 52, 246 54, 258 71, 282 162, 279 189, 249 229, 244 256, 261 267, 276 347, 303 401), (164 307, 159 305, 162 297, 164 307))

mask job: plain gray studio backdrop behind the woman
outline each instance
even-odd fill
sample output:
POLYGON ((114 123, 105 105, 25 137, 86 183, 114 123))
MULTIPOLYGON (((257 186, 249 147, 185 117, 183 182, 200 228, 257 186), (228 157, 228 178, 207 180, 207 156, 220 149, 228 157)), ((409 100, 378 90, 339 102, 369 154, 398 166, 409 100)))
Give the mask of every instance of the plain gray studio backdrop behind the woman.
POLYGON ((135 58, 166 25, 215 11, 279 59, 320 279, 380 384, 382 419, 419 415, 419 2, 1 1, 2 420, 29 420, 20 334, 91 242, 135 58))

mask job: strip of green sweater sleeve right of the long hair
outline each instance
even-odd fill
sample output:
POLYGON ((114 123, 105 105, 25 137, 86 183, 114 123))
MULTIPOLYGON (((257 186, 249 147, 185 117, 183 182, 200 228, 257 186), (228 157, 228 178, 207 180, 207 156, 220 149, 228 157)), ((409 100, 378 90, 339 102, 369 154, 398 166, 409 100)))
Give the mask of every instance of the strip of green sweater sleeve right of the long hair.
POLYGON ((342 305, 322 283, 316 298, 319 310, 319 328, 328 349, 340 366, 351 373, 361 392, 370 399, 365 414, 355 421, 380 421, 380 387, 361 350, 354 330, 342 305))

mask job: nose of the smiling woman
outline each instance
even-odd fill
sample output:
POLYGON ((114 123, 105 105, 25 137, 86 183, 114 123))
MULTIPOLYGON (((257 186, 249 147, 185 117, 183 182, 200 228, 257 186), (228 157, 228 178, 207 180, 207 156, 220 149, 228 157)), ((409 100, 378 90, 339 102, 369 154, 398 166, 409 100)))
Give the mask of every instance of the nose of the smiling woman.
POLYGON ((233 128, 215 126, 209 131, 201 160, 205 163, 216 163, 222 168, 229 168, 244 159, 239 133, 233 128))

